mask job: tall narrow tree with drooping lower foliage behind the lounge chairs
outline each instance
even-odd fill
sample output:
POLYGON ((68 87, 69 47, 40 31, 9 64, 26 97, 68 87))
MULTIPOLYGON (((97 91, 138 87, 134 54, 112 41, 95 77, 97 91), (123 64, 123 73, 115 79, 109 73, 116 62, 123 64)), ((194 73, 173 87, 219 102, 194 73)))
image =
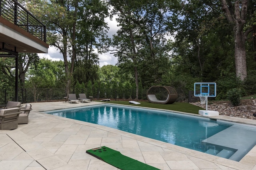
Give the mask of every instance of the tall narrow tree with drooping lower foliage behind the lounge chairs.
POLYGON ((102 53, 108 41, 108 6, 104 1, 88 0, 80 2, 78 7, 78 26, 76 31, 76 68, 74 81, 87 84, 98 79, 98 53, 102 53))

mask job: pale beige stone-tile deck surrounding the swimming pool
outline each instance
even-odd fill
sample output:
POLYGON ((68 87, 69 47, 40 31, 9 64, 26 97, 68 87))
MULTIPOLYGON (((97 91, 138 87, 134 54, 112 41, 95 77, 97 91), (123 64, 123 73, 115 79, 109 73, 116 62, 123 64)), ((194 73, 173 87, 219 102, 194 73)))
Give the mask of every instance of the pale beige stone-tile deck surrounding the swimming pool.
MULTIPOLYGON (((0 167, 4 170, 118 170, 86 150, 106 146, 161 170, 256 170, 256 147, 240 162, 179 147, 118 129, 42 113, 102 104, 31 103, 29 123, 0 131, 0 167)), ((256 125, 256 120, 217 116, 256 125)))

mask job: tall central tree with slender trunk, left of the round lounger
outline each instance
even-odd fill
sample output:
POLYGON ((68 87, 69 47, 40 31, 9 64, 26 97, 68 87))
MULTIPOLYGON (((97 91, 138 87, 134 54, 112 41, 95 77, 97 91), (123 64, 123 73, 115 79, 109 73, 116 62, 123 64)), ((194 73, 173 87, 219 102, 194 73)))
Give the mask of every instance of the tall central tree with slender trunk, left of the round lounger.
POLYGON ((118 15, 117 21, 120 26, 113 36, 112 53, 118 57, 120 67, 133 69, 136 99, 138 99, 140 74, 147 72, 150 77, 155 77, 158 68, 163 66, 161 64, 166 64, 166 62, 157 63, 162 57, 168 57, 166 51, 162 50, 166 43, 164 37, 166 4, 165 1, 153 0, 110 0, 109 2, 114 8, 112 15, 118 15))

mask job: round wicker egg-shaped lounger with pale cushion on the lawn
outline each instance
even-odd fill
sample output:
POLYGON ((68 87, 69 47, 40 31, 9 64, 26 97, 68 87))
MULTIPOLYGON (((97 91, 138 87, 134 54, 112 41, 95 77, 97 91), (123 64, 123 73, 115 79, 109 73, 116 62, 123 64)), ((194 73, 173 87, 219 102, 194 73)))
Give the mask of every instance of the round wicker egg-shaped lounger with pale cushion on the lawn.
POLYGON ((172 104, 178 94, 171 86, 152 86, 148 89, 147 98, 150 103, 172 104))

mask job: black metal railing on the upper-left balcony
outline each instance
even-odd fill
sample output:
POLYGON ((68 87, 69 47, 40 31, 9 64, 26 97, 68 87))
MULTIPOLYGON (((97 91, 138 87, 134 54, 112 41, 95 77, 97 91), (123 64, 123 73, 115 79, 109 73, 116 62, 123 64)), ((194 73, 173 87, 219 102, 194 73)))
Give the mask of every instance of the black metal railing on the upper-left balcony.
POLYGON ((46 42, 46 26, 16 0, 0 0, 0 16, 46 42))

